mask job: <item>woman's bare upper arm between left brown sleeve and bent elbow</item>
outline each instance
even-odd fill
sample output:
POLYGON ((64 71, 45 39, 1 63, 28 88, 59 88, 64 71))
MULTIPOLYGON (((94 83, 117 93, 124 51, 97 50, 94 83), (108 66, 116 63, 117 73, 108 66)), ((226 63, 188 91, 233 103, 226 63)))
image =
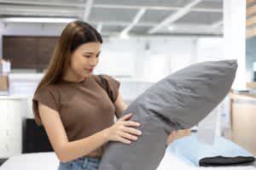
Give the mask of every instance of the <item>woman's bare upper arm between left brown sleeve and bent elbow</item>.
POLYGON ((63 146, 68 143, 67 133, 61 122, 60 114, 46 105, 38 103, 39 115, 49 138, 49 142, 61 160, 63 146))

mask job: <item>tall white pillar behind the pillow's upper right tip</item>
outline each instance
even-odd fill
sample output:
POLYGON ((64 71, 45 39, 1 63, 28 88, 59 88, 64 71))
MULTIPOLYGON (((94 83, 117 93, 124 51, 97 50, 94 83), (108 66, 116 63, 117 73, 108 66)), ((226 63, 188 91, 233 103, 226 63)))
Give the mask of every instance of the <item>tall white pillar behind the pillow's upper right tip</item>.
POLYGON ((224 54, 237 59, 238 69, 232 88, 246 88, 246 1, 224 0, 224 54))

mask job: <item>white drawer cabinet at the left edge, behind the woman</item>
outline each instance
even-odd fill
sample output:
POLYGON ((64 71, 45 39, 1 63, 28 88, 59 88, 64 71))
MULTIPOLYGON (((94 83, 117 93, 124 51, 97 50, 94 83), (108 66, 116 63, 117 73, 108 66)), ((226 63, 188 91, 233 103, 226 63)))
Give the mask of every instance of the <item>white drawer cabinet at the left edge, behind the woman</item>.
POLYGON ((0 158, 8 158, 22 151, 22 116, 24 98, 0 98, 0 158))

